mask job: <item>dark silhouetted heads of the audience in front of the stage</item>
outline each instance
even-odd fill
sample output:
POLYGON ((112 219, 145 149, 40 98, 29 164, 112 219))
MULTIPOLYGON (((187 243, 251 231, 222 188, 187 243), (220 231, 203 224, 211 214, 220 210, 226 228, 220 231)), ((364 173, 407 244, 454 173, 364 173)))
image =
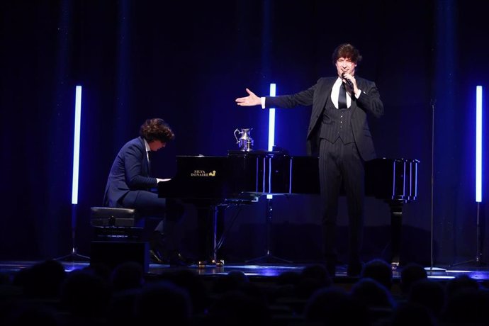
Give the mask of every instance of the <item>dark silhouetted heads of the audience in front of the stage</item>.
POLYGON ((237 270, 206 281, 193 269, 155 277, 137 262, 66 272, 53 260, 0 279, 6 326, 488 325, 483 283, 429 279, 418 264, 404 266, 396 281, 382 259, 367 262, 350 284, 322 264, 260 282, 237 270))

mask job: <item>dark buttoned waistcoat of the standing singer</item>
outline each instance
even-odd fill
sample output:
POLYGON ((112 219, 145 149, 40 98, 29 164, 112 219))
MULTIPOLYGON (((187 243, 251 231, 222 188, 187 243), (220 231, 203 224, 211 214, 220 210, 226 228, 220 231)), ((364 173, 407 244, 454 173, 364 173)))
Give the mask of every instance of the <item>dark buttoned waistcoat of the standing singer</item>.
POLYGON ((319 137, 330 142, 335 142, 338 138, 344 144, 354 142, 352 131, 352 109, 335 108, 331 101, 331 96, 327 98, 325 109, 322 111, 322 123, 319 137))

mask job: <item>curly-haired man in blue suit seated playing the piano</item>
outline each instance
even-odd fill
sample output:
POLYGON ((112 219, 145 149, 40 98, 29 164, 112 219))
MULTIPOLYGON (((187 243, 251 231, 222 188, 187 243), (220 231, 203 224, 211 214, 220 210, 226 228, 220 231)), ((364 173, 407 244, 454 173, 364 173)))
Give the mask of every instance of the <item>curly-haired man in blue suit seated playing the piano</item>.
POLYGON ((126 142, 118 152, 108 174, 103 205, 135 208, 142 216, 160 216, 150 235, 150 258, 159 264, 184 266, 187 262, 179 253, 176 233, 184 206, 150 191, 163 181, 151 176, 151 152, 164 148, 174 137, 172 128, 163 119, 147 119, 140 127, 140 137, 126 142))

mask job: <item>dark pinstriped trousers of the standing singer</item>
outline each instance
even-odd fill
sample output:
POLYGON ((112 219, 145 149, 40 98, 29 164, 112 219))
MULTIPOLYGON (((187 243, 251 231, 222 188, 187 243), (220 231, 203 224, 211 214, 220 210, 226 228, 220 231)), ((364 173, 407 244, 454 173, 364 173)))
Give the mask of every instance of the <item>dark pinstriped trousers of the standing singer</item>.
POLYGON ((344 144, 340 138, 335 142, 321 139, 319 176, 326 262, 337 262, 338 199, 343 187, 349 216, 349 264, 359 263, 364 228, 365 169, 356 144, 344 144))

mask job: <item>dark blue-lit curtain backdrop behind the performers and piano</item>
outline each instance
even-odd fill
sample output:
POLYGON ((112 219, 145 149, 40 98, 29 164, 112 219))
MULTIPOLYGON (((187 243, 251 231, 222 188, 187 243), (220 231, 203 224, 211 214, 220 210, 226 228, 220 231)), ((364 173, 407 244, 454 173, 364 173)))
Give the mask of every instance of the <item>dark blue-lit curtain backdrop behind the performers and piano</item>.
MULTIPOLYGON (((474 97, 476 85, 485 96, 489 88, 486 9, 485 1, 436 0, 1 1, 0 259, 69 254, 72 220, 79 253, 88 255, 89 208, 101 205, 113 158, 146 118, 164 118, 176 133, 157 154, 162 177, 175 173, 175 154, 237 149, 236 128, 253 128, 254 147, 266 149, 268 112, 238 107, 235 98, 246 87, 266 95, 270 83, 277 94, 289 94, 335 74, 331 53, 343 42, 359 47, 357 74, 376 81, 385 104, 385 116, 370 121, 378 156, 420 160, 418 198, 405 205, 401 259, 430 264, 432 243, 434 264, 474 259, 474 97), (81 161, 73 212, 78 84, 81 161)), ((276 145, 305 155, 309 116, 310 108, 278 110, 276 145)), ((487 259, 484 196, 479 233, 487 259)), ((388 206, 366 203, 365 258, 388 257, 388 206)), ((274 198, 274 254, 321 259, 318 207, 316 196, 274 198)), ((191 255, 196 213, 187 210, 181 232, 191 255)), ((265 253, 265 210, 263 199, 227 209, 227 259, 265 253)))

